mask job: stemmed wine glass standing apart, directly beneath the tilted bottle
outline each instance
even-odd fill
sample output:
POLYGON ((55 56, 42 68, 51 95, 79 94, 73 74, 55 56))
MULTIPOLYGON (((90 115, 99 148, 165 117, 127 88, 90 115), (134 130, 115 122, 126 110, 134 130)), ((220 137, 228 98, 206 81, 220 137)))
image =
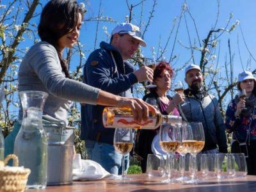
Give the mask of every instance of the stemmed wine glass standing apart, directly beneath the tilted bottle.
POLYGON ((116 128, 114 134, 114 147, 120 154, 122 154, 122 177, 120 180, 131 180, 129 177, 125 177, 125 161, 124 155, 129 154, 133 147, 133 134, 132 129, 129 128, 116 128))

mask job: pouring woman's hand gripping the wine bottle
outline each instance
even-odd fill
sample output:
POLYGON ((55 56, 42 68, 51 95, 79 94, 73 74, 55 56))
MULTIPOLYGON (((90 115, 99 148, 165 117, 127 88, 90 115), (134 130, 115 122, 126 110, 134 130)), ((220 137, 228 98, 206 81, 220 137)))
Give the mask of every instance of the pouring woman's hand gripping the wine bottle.
POLYGON ((146 121, 148 118, 148 111, 153 111, 154 113, 159 113, 154 106, 151 106, 147 102, 138 98, 125 98, 120 97, 120 101, 117 104, 119 108, 131 108, 134 120, 141 122, 146 121))

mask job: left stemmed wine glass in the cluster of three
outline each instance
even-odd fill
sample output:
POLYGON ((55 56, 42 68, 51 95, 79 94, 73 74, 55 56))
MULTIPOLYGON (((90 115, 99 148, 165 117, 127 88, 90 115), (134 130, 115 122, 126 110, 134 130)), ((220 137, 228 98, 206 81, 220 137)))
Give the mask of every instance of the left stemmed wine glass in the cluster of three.
POLYGON ((179 148, 180 141, 180 129, 177 125, 165 123, 161 124, 159 132, 159 145, 164 152, 167 153, 166 168, 168 170, 168 179, 163 180, 163 182, 177 182, 177 180, 172 179, 172 154, 174 154, 179 148))

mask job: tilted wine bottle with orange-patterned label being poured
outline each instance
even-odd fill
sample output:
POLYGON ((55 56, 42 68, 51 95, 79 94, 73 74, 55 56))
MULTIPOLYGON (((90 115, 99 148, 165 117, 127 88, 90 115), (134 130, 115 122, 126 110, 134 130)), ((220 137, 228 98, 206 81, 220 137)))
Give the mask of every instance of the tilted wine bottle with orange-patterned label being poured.
POLYGON ((181 116, 161 115, 149 111, 146 121, 137 122, 133 119, 131 108, 106 107, 103 110, 102 120, 107 128, 156 129, 163 122, 176 124, 182 122, 181 116))

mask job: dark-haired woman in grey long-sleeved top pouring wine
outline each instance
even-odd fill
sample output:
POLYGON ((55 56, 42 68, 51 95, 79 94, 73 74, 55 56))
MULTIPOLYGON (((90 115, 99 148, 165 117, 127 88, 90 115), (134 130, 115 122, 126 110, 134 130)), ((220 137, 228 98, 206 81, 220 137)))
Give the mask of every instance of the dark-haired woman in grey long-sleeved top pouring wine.
MULTIPOLYGON (((140 99, 119 97, 87 84, 69 79, 63 50, 71 48, 79 37, 83 10, 73 0, 52 0, 42 10, 38 35, 41 42, 33 45, 24 56, 19 68, 19 92, 41 91, 49 93, 44 106, 43 119, 68 124, 67 110, 72 101, 130 107, 138 121, 147 118, 148 104, 140 99)), ((13 153, 13 145, 20 129, 22 111, 13 131, 5 140, 5 156, 13 153)))

